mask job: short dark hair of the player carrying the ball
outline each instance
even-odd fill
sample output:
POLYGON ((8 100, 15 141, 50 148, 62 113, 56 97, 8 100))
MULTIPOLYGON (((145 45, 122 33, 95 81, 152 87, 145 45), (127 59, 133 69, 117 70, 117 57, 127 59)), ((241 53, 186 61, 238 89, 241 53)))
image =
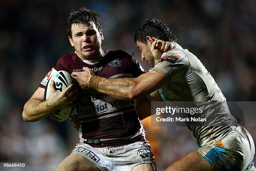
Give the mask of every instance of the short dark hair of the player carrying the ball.
POLYGON ((78 25, 92 25, 92 22, 96 25, 96 28, 99 30, 102 29, 101 22, 100 22, 100 14, 87 9, 87 8, 80 8, 79 10, 75 11, 72 10, 69 14, 69 17, 67 19, 68 24, 68 30, 67 34, 72 38, 72 24, 78 24, 78 25))

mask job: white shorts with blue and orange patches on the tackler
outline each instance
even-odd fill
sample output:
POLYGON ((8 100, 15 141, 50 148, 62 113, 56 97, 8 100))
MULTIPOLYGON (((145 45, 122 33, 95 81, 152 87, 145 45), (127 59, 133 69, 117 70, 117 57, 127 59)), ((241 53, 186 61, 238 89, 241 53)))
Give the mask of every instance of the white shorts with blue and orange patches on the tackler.
POLYGON ((218 170, 251 171, 255 147, 248 131, 238 126, 221 141, 197 150, 218 170))

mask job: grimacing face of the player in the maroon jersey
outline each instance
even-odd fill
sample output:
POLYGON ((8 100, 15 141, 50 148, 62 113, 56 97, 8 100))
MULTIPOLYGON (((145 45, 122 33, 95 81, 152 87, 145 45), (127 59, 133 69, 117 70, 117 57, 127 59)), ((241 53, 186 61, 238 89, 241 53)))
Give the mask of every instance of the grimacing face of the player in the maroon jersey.
POLYGON ((72 38, 70 44, 77 51, 77 55, 83 59, 95 59, 102 55, 101 41, 104 39, 94 23, 90 25, 73 24, 71 27, 72 38))

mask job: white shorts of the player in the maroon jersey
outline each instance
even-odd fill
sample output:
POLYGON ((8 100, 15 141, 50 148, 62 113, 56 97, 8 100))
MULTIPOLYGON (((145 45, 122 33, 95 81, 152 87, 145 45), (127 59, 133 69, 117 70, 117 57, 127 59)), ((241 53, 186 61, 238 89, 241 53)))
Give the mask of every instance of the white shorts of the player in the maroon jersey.
POLYGON ((102 148, 78 143, 72 153, 89 159, 101 171, 131 171, 135 166, 143 163, 151 163, 155 166, 154 155, 148 141, 102 148))

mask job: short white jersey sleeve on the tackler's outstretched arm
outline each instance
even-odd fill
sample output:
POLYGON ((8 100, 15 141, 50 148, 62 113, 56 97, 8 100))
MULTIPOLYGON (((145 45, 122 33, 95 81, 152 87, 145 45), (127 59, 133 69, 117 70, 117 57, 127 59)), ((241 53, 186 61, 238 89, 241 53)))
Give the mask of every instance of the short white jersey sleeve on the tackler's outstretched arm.
POLYGON ((149 72, 163 73, 170 80, 176 80, 179 79, 180 75, 186 73, 188 69, 189 61, 186 54, 165 53, 155 67, 149 69, 149 72))

